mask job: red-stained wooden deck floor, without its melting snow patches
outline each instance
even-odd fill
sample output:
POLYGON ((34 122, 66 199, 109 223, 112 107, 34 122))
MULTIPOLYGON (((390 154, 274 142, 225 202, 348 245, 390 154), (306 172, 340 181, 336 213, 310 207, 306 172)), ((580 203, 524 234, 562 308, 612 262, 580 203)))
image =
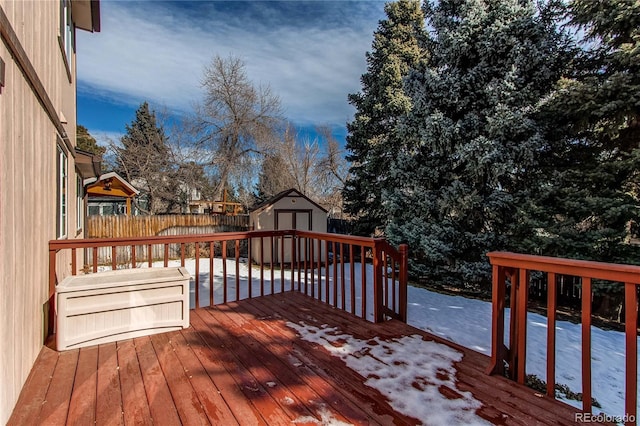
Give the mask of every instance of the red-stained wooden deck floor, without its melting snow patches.
MULTIPOLYGON (((56 352, 43 348, 9 425, 415 425, 365 378, 287 322, 338 327, 359 339, 420 334, 464 353, 457 391, 494 424, 574 424, 574 410, 487 376, 489 358, 399 321, 373 324, 298 292, 191 311, 189 329, 56 352)), ((438 407, 434 407, 437 410, 438 407)))

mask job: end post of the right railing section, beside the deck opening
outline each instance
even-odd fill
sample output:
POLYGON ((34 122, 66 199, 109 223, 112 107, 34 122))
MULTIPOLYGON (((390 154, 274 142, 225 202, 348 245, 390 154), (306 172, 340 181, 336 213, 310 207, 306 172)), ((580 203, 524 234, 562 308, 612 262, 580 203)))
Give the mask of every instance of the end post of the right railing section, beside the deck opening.
MULTIPOLYGON (((505 271, 504 268, 492 266, 491 292, 491 363, 487 374, 504 374, 504 305, 505 305, 505 271)), ((513 313, 512 313, 513 315, 513 313)))

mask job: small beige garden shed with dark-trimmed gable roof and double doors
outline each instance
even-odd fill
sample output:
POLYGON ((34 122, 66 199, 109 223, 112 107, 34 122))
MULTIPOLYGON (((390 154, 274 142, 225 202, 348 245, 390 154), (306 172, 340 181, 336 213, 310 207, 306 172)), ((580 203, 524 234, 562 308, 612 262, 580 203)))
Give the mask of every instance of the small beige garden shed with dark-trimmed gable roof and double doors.
MULTIPOLYGON (((327 210, 300 191, 288 189, 254 208, 249 214, 249 225, 256 231, 299 229, 327 232, 327 210)), ((283 240, 276 239, 272 244, 267 238, 251 241, 251 258, 256 263, 260 263, 261 258, 264 263, 291 262, 289 238, 284 239, 284 259, 280 259, 283 240)), ((324 260, 324 245, 320 251, 320 260, 324 260)), ((314 260, 318 260, 317 250, 315 252, 314 260)), ((301 255, 299 253, 297 258, 301 259, 301 255)))

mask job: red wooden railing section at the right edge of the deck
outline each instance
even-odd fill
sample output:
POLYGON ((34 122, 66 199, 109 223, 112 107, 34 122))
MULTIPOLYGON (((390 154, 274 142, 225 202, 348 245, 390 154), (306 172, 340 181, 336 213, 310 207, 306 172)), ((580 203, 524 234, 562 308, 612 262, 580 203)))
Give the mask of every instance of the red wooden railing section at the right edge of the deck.
MULTIPOLYGON (((610 281, 624 286, 625 311, 625 411, 629 419, 637 416, 638 397, 638 287, 640 267, 584 260, 531 256, 506 252, 488 254, 493 268, 493 319, 491 365, 489 374, 508 375, 524 383, 526 380, 527 297, 531 271, 547 274, 547 394, 555 397, 556 353, 556 284, 561 275, 579 277, 582 282, 582 401, 583 411, 592 411, 591 384, 591 301, 592 280, 610 281), (504 319, 506 281, 511 283, 509 294, 511 316, 509 347, 505 347, 504 319)), ((635 421, 633 422, 635 423, 635 421)))

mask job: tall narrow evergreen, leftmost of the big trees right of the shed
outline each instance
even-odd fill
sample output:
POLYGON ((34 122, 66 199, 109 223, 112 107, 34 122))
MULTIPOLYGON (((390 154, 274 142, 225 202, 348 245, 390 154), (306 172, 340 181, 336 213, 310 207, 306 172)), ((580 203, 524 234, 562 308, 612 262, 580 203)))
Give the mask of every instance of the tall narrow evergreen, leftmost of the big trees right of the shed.
POLYGON ((425 37, 420 1, 391 2, 385 12, 387 19, 379 22, 372 52, 367 53, 362 92, 349 95, 356 113, 347 124, 347 159, 352 166, 343 197, 346 212, 356 217, 354 230, 361 235, 370 235, 386 224, 381 187, 398 143, 394 129, 411 109, 403 79, 426 58, 420 46, 425 37))

